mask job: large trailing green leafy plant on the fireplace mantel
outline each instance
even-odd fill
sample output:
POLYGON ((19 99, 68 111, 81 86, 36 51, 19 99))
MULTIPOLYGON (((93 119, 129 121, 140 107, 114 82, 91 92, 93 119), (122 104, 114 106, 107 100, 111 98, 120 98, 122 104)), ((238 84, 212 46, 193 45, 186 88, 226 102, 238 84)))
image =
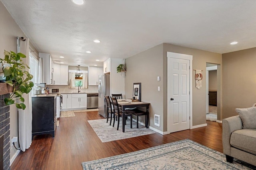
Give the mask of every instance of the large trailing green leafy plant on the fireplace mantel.
POLYGON ((13 87, 13 91, 10 94, 10 98, 5 98, 4 102, 6 105, 14 104, 14 98, 18 98, 21 103, 15 103, 19 109, 25 109, 24 93, 28 94, 34 83, 31 81, 33 75, 31 75, 26 68, 29 66, 23 63, 21 58, 26 58, 26 55, 22 53, 14 53, 13 51, 4 51, 4 59, 0 58, 4 77, 6 78, 5 83, 13 87))

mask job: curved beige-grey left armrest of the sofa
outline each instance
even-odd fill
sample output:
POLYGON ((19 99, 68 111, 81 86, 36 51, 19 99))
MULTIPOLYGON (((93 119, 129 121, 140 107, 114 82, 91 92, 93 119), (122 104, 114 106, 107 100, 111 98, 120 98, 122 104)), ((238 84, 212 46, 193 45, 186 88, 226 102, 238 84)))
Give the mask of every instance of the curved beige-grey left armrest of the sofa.
POLYGON ((230 156, 230 136, 232 132, 239 129, 242 129, 242 120, 238 115, 222 120, 222 146, 224 154, 230 156))

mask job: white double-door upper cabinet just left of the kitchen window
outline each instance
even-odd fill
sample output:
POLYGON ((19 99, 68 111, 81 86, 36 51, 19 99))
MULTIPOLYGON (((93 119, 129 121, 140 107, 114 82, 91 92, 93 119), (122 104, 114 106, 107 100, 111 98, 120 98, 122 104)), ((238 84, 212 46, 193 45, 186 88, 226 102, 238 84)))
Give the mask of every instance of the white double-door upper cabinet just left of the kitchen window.
POLYGON ((68 66, 54 63, 54 85, 68 85, 68 66))

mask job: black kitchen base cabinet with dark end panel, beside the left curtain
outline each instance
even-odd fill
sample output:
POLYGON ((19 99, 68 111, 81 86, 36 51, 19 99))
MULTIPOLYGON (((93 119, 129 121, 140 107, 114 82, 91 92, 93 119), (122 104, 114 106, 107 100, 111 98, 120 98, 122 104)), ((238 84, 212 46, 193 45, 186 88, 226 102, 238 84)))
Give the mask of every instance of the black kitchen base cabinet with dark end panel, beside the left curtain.
POLYGON ((56 94, 32 97, 32 140, 34 135, 51 134, 54 137, 56 116, 56 94))

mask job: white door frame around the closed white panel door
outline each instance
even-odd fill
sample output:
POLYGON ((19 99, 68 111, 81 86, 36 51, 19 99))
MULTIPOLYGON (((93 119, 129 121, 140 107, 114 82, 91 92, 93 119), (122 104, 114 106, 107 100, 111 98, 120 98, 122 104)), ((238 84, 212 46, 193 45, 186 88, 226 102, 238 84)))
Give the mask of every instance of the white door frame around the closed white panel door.
MULTIPOLYGON (((190 76, 190 80, 189 80, 189 96, 190 96, 190 129, 192 129, 193 126, 193 121, 192 121, 192 60, 193 60, 193 56, 192 55, 186 55, 186 54, 180 54, 180 53, 172 53, 172 52, 167 52, 167 57, 170 58, 176 58, 176 59, 184 59, 184 60, 189 60, 189 64, 190 64, 190 68, 189 68, 189 76, 190 76)), ((168 66, 168 65, 167 65, 168 66)), ((167 86, 167 91, 168 91, 168 86, 167 86)), ((166 101, 168 101, 168 99, 166 99, 166 101)), ((170 133, 171 129, 170 129, 170 123, 168 123, 168 120, 170 120, 171 115, 170 113, 168 113, 167 110, 167 133, 170 133)))

